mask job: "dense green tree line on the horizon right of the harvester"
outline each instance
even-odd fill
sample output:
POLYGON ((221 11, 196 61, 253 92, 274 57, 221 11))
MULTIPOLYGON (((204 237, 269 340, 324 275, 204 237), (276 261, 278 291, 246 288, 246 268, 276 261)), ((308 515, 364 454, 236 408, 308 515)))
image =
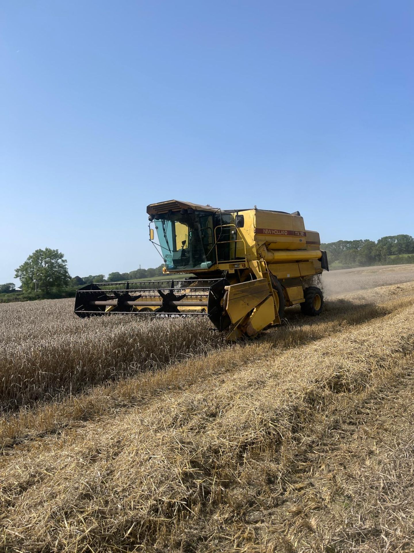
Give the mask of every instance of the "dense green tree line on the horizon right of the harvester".
POLYGON ((383 236, 376 242, 338 240, 322 243, 321 249, 326 250, 332 269, 414 263, 414 238, 409 234, 383 236))

